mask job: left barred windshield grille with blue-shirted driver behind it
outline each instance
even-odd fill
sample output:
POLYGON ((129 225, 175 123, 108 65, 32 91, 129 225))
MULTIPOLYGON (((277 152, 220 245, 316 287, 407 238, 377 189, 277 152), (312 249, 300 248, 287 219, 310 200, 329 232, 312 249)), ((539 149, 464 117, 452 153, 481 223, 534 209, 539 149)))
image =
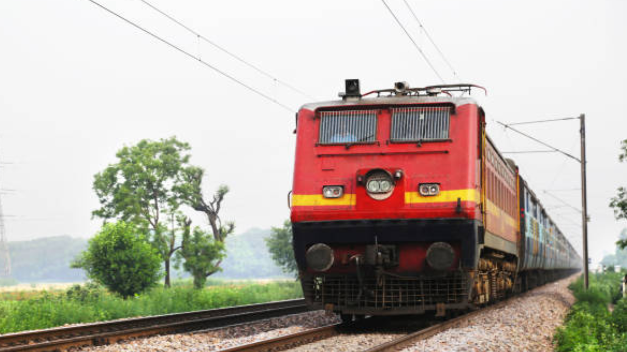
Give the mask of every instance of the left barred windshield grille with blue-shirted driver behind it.
POLYGON ((320 144, 372 143, 377 137, 377 111, 323 111, 320 144))

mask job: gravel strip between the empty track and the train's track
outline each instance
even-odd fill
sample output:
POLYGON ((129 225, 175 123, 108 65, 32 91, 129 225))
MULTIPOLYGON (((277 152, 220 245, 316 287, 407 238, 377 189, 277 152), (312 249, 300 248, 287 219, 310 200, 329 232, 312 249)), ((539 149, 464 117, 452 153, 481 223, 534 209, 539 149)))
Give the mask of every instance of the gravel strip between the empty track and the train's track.
POLYGON ((150 338, 132 339, 119 344, 83 348, 84 352, 169 352, 217 351, 262 339, 297 333, 312 328, 339 323, 337 316, 324 311, 293 314, 266 319, 251 324, 240 324, 211 331, 170 334, 150 338))

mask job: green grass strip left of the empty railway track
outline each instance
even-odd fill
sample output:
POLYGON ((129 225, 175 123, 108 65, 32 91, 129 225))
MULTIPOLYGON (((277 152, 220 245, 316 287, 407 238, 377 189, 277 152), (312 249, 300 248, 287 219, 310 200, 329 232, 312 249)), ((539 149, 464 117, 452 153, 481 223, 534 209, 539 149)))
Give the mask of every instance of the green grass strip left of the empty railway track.
POLYGON ((155 287, 126 300, 93 284, 3 297, 0 333, 302 298, 296 281, 212 283, 196 290, 187 282, 176 282, 171 289, 155 287))

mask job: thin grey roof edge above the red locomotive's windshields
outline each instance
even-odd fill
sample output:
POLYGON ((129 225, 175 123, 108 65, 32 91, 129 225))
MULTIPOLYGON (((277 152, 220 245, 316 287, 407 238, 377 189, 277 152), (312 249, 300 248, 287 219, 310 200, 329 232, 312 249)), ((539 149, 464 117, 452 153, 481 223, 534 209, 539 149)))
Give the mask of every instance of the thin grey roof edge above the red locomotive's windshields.
POLYGON ((443 104, 450 103, 455 106, 466 104, 478 105, 477 101, 472 97, 455 97, 455 96, 408 96, 408 95, 392 95, 377 96, 375 98, 346 98, 342 100, 319 101, 315 103, 307 103, 301 106, 301 109, 316 110, 319 108, 332 108, 334 106, 362 106, 362 105, 408 105, 408 104, 443 104))

